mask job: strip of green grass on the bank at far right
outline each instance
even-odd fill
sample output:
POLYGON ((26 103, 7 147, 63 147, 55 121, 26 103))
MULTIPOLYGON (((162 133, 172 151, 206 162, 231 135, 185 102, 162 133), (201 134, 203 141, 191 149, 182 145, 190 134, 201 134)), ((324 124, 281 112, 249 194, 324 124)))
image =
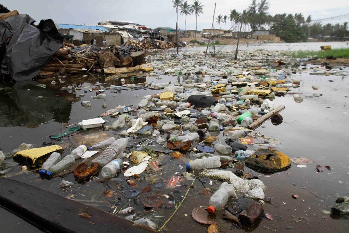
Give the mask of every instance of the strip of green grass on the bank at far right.
POLYGON ((290 51, 283 52, 283 56, 295 57, 295 58, 326 58, 327 56, 333 56, 337 58, 349 58, 349 49, 331 49, 331 50, 320 50, 320 51, 290 51))

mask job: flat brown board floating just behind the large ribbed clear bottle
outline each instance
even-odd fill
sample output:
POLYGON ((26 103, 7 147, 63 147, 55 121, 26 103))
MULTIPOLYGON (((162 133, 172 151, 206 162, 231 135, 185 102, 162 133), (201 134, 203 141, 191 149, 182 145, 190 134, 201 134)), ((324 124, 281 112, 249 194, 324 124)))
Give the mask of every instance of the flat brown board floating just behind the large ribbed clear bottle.
POLYGON ((95 143, 99 143, 100 141, 113 137, 113 134, 111 134, 109 131, 93 132, 92 130, 93 129, 87 130, 87 133, 70 136, 69 140, 73 143, 74 146, 86 145, 87 147, 89 147, 95 143))

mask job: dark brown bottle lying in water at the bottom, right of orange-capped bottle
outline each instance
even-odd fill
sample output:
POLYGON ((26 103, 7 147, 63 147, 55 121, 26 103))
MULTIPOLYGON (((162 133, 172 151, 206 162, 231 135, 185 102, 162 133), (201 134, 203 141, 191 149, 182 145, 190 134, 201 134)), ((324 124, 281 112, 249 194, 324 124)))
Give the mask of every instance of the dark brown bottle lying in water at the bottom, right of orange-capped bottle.
POLYGON ((248 226, 252 226, 254 222, 261 216, 261 214, 264 213, 263 206, 264 201, 259 200, 258 202, 252 202, 250 203, 246 209, 244 209, 239 214, 239 220, 248 226))

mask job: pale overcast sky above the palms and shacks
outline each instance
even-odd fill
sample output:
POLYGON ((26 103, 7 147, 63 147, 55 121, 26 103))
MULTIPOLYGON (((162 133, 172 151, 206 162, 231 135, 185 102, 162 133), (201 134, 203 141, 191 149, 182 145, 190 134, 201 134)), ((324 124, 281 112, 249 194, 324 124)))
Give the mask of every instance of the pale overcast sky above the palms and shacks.
MULTIPOLYGON (((203 14, 198 17, 198 30, 211 28, 214 4, 215 18, 218 14, 229 15, 230 10, 242 12, 251 0, 202 0, 203 14)), ((188 4, 192 4, 189 0, 188 4)), ((348 0, 269 0, 269 14, 302 13, 305 18, 323 19, 349 13, 348 0)), ((125 20, 144 24, 148 28, 172 27, 177 21, 172 0, 3 0, 1 4, 9 10, 28 14, 39 23, 41 19, 52 19, 55 23, 94 26, 103 20, 125 20)), ((178 16, 179 28, 184 29, 184 15, 178 16)), ((215 20, 216 21, 216 20, 215 20)), ((349 22, 349 17, 336 22, 349 22)), ((333 22, 331 22, 333 23, 333 22)), ((229 28, 230 22, 227 22, 229 28)), ((222 24, 222 29, 225 26, 222 24)), ((215 27, 219 26, 215 23, 215 27)), ((186 17, 186 29, 195 29, 195 15, 186 17)))

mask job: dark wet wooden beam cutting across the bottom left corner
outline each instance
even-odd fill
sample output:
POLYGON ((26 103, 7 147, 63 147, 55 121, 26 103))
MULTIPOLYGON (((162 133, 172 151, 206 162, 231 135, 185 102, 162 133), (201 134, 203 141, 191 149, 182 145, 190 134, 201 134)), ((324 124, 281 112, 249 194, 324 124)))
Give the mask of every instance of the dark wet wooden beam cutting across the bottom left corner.
POLYGON ((0 178, 1 205, 48 232, 158 232, 52 192, 0 178))

